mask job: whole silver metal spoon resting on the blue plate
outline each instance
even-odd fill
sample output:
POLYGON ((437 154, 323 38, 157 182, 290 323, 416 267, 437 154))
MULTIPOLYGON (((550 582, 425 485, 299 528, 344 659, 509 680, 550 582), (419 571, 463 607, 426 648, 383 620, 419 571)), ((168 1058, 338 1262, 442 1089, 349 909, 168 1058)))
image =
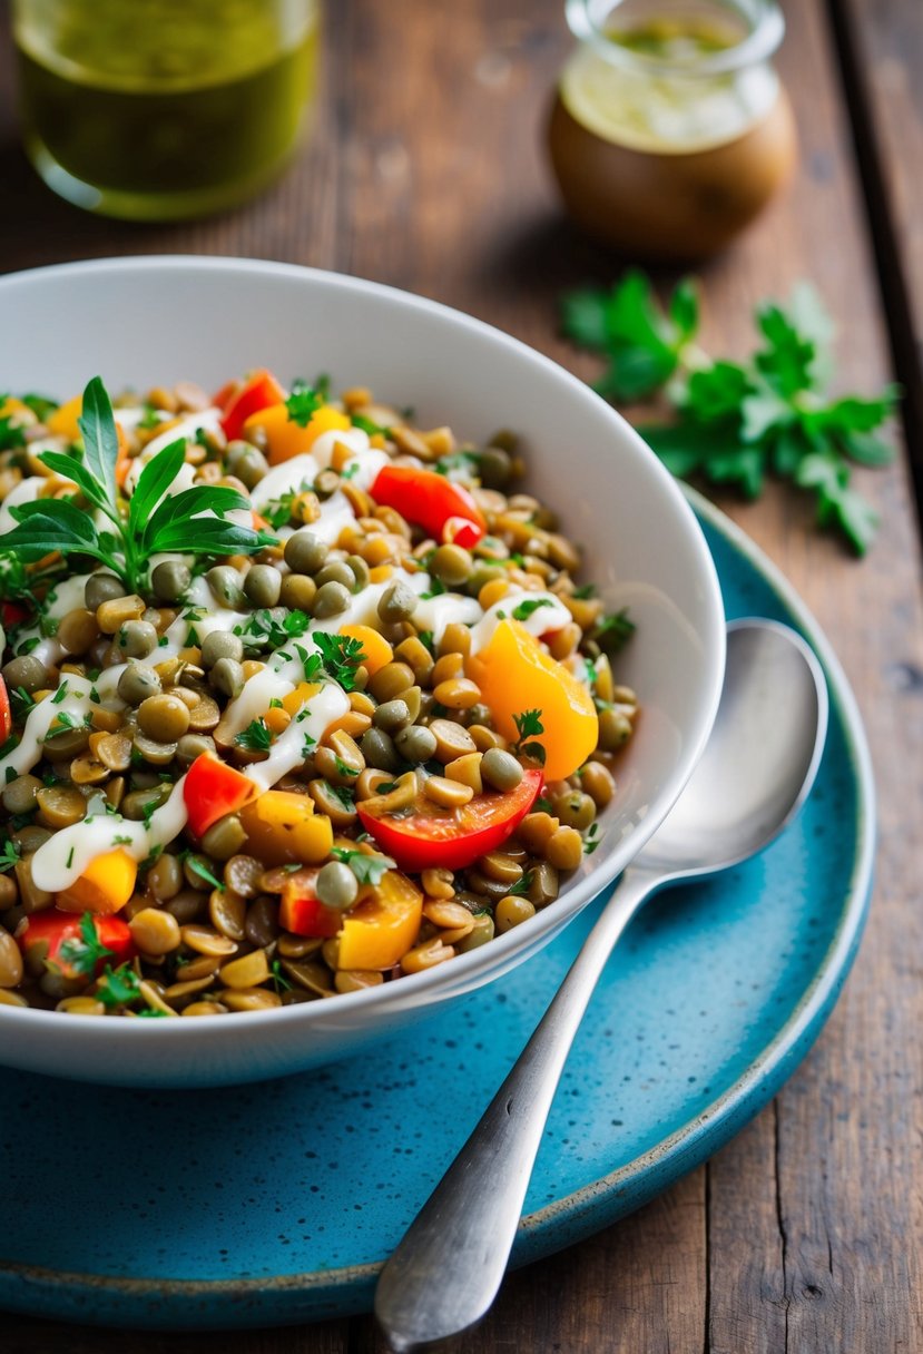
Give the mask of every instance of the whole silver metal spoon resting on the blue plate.
POLYGON ((567 1053, 631 918, 665 886, 762 850, 811 789, 826 730, 827 686, 804 640, 774 621, 732 621, 717 718, 698 766, 623 873, 516 1066, 382 1271, 375 1313, 397 1354, 467 1330, 494 1301, 567 1053))

